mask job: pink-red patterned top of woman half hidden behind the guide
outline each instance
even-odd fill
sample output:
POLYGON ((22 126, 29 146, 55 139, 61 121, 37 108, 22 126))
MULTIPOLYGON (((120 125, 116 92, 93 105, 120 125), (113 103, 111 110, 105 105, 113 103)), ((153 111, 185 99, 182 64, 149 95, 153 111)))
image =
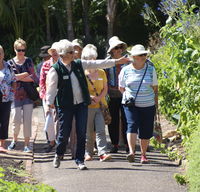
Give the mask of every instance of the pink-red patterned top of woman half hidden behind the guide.
POLYGON ((51 66, 53 65, 53 58, 51 57, 49 60, 45 61, 42 65, 41 72, 40 72, 40 98, 45 99, 46 97, 46 78, 47 73, 51 66))

